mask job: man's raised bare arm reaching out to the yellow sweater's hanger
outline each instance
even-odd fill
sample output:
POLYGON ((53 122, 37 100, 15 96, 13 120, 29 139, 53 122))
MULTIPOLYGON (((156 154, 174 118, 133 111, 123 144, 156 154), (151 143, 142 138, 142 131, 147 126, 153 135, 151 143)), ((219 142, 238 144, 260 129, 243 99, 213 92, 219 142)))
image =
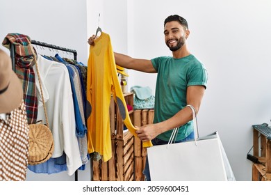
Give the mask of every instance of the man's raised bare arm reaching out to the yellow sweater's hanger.
POLYGON ((138 70, 141 72, 155 73, 156 70, 150 60, 145 59, 133 59, 130 56, 124 54, 118 54, 114 52, 115 63, 123 68, 138 70))

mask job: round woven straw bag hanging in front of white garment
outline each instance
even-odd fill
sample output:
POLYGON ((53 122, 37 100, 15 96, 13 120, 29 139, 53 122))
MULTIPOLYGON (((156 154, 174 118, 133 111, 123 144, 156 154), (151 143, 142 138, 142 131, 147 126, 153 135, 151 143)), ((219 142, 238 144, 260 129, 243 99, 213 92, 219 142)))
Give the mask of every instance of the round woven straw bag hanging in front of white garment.
POLYGON ((29 127, 28 164, 46 162, 54 153, 54 139, 46 125, 31 124, 29 127))

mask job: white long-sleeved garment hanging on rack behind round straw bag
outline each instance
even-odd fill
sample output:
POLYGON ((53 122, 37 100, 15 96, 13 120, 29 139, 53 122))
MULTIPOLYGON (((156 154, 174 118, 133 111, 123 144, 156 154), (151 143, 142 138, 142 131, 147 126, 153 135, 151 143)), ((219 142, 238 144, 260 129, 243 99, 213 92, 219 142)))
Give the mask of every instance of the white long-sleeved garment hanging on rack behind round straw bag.
MULTIPOLYGON (((49 61, 40 55, 38 55, 37 62, 44 101, 47 107, 49 127, 54 137, 55 148, 52 158, 60 157, 65 152, 67 173, 71 176, 82 165, 82 162, 76 137, 74 103, 69 72, 63 63, 49 61)), ((34 71, 36 71, 35 66, 34 71)), ((39 100, 38 120, 45 121, 38 81, 36 86, 39 100)), ((42 167, 43 165, 38 164, 35 166, 42 167)))

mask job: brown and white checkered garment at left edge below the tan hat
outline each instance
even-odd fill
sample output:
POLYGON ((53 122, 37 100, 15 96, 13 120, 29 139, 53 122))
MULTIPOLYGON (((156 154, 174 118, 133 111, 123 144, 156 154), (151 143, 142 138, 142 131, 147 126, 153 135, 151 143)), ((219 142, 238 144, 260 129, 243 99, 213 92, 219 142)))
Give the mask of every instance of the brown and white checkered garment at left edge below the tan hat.
POLYGON ((28 164, 28 124, 24 100, 0 117, 0 181, 24 181, 28 164))

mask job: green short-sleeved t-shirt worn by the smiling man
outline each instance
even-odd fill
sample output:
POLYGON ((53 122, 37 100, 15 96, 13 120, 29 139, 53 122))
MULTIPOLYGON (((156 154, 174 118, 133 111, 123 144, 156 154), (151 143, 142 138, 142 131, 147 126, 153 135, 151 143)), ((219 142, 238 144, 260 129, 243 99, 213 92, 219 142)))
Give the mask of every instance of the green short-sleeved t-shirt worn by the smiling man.
MULTIPOLYGON (((157 71, 154 123, 159 123, 174 116, 178 111, 186 107, 186 91, 188 86, 207 84, 208 73, 204 65, 189 55, 181 59, 172 56, 162 56, 151 59, 157 71)), ((179 127, 176 141, 185 139, 193 132, 192 120, 179 127)), ((168 141, 172 130, 159 134, 158 139, 168 141)))

